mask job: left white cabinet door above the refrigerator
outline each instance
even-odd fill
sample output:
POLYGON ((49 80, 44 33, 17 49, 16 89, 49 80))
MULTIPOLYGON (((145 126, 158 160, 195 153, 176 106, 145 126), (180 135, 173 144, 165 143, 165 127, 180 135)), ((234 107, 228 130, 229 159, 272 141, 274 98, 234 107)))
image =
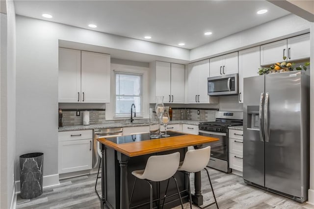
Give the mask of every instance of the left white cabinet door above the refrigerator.
POLYGON ((283 57, 287 55, 287 39, 262 45, 261 65, 271 65, 276 62, 283 62, 285 61, 283 57))

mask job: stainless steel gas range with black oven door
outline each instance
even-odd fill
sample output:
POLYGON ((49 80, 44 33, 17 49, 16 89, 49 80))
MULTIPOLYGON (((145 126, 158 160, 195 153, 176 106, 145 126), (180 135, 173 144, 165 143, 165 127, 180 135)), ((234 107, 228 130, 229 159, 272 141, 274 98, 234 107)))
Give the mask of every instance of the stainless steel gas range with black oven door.
POLYGON ((199 135, 219 138, 204 146, 210 146, 210 160, 208 166, 226 173, 229 168, 228 127, 242 126, 243 112, 216 111, 216 121, 199 124, 199 135))

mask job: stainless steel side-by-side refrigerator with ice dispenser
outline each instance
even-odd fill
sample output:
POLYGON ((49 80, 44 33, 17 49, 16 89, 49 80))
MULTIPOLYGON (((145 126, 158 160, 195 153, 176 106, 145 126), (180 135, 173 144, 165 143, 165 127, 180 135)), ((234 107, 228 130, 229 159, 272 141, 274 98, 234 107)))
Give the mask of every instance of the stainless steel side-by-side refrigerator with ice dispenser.
POLYGON ((244 78, 243 179, 298 202, 309 189, 309 84, 301 71, 244 78))

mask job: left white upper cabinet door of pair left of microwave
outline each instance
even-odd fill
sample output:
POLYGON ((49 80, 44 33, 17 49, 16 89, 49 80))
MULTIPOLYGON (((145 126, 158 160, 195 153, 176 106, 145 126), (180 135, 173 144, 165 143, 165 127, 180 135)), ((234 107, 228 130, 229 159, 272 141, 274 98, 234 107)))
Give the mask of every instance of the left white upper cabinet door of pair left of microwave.
POLYGON ((187 103, 197 103, 198 71, 197 64, 191 63, 187 69, 187 103))

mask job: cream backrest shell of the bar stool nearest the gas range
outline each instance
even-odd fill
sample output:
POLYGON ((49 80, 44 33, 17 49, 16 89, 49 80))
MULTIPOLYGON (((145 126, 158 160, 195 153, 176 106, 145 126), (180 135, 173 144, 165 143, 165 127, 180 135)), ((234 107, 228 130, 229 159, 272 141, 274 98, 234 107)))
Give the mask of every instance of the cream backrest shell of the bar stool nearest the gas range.
POLYGON ((183 164, 179 170, 190 173, 199 172, 207 166, 209 157, 210 146, 198 150, 189 150, 185 153, 183 164))

